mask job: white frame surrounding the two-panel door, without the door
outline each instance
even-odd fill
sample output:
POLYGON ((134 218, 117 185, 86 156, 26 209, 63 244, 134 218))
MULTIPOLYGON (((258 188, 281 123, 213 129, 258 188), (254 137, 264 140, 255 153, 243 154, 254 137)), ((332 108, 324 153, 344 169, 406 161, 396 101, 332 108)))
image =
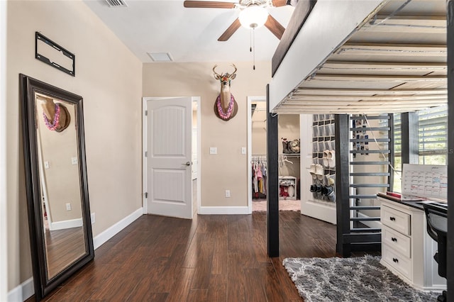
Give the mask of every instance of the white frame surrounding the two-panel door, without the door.
MULTIPOLYGON (((147 157, 145 157, 145 152, 147 148, 147 118, 146 118, 146 111, 147 111, 147 101, 154 101, 154 100, 162 100, 162 99, 175 99, 185 96, 144 96, 142 98, 142 208, 143 214, 148 213, 148 204, 147 204, 147 197, 146 194, 148 192, 147 187, 147 157)), ((200 157, 200 150, 201 150, 201 110, 200 110, 200 96, 191 96, 192 101, 192 108, 194 108, 194 104, 196 106, 196 113, 197 113, 197 213, 200 211, 201 205, 201 157, 200 157)), ((191 127, 192 133, 192 127, 191 127)), ((191 134, 192 135, 192 134, 191 134)), ((191 181, 192 177, 191 177, 191 181)), ((194 189, 194 188, 193 188, 194 189)), ((148 192, 149 193, 149 192, 148 192)), ((192 198, 192 197, 191 197, 192 198)), ((191 201, 194 203, 194 201, 191 201)), ((192 210, 194 214, 194 209, 192 210)))

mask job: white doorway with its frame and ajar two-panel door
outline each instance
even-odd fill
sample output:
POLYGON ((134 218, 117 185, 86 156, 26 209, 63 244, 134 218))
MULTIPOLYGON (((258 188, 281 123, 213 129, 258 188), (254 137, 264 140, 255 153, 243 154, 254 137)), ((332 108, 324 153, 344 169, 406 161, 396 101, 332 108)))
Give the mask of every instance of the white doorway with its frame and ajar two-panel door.
POLYGON ((143 98, 144 213, 190 219, 199 210, 199 104, 196 96, 143 98))

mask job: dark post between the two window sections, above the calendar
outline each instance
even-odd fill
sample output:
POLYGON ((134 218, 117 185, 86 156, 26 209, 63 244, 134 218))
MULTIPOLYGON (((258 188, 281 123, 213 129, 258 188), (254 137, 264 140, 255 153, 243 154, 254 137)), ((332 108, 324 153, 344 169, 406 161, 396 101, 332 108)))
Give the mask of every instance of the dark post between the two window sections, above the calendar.
POLYGON ((401 123, 402 164, 419 164, 418 113, 402 113, 401 123))

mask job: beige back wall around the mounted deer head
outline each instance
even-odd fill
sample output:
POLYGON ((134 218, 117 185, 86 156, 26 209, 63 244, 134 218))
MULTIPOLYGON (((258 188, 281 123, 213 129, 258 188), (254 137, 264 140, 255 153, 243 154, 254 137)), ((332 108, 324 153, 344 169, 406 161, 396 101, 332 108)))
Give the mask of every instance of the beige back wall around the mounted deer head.
MULTIPOLYGON (((150 63, 143 65, 143 96, 201 96, 201 206, 247 206, 248 161, 241 154, 247 147, 247 97, 265 96, 271 79, 270 62, 232 62, 238 67, 231 91, 238 114, 230 121, 214 115, 213 106, 220 84, 216 72, 232 72, 227 63, 150 63), (209 147, 218 154, 210 155, 209 147), (231 190, 231 198, 224 191, 231 190)), ((229 63, 230 64, 230 63, 229 63)))

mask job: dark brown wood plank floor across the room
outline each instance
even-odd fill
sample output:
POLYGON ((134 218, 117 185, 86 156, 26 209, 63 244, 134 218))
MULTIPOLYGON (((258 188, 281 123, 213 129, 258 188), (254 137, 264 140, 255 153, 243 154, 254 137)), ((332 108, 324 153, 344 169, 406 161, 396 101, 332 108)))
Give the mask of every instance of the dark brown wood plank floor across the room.
POLYGON ((266 213, 142 216, 45 301, 301 301, 285 257, 333 257, 336 226, 279 212, 280 257, 267 257, 266 213))

